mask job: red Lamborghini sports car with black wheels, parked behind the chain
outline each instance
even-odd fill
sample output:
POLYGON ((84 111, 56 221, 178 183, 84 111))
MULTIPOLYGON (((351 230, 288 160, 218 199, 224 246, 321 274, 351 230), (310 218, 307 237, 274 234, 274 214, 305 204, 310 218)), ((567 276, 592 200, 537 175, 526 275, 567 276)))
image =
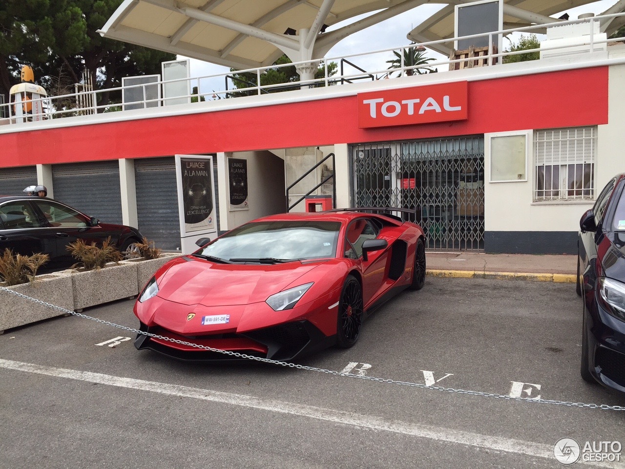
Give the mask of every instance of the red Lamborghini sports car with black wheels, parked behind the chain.
POLYGON ((372 211, 267 216, 170 261, 135 303, 134 345, 183 360, 241 358, 209 347, 281 361, 351 347, 377 306, 425 281, 421 227, 372 211))

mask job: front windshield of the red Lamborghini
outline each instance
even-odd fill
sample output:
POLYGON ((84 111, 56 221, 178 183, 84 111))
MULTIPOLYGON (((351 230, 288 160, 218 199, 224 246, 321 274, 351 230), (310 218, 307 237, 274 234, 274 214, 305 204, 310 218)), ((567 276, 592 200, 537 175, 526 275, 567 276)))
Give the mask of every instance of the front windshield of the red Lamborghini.
POLYGON ((336 256, 337 221, 261 221, 235 228, 196 254, 234 262, 280 262, 336 256))

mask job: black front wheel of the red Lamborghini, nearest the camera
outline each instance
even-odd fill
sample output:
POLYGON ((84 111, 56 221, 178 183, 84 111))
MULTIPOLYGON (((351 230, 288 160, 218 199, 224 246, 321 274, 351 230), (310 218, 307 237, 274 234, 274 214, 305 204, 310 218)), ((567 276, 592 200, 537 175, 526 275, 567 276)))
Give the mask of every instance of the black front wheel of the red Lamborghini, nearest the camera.
POLYGON ((348 275, 341 291, 339 312, 337 317, 337 345, 349 348, 354 345, 360 336, 362 326, 362 288, 352 275, 348 275))

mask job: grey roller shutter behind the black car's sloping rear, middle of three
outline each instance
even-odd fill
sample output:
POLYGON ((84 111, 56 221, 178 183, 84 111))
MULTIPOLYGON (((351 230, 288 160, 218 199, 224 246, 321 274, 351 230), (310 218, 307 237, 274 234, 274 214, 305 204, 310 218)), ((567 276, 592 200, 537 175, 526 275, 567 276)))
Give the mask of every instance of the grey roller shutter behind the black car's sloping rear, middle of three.
POLYGON ((54 164, 54 198, 104 223, 122 223, 119 163, 54 164))

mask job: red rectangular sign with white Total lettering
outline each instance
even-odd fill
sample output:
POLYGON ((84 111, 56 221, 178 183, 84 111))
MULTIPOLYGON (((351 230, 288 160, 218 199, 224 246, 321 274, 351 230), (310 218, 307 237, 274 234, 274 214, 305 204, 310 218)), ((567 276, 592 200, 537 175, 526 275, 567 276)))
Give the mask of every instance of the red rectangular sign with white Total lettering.
POLYGON ((387 127, 467 118, 467 82, 358 94, 359 127, 387 127))

